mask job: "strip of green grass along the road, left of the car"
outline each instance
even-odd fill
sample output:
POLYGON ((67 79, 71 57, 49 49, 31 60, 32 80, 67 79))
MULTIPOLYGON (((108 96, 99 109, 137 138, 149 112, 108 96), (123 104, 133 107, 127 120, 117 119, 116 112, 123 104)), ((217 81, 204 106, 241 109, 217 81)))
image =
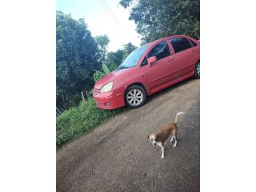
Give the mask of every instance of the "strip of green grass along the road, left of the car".
POLYGON ((56 147, 59 150, 68 142, 81 138, 114 115, 126 109, 101 110, 94 104, 93 98, 87 98, 77 107, 65 110, 56 119, 56 147))

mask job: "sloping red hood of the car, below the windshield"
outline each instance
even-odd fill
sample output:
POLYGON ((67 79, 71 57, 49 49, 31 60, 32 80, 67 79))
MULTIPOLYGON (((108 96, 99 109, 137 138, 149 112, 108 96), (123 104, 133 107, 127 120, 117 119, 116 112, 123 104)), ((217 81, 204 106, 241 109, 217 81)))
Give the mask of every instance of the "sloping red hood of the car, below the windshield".
POLYGON ((126 74, 131 69, 132 68, 112 71, 110 74, 107 74, 104 78, 101 78, 100 80, 98 80, 98 82, 95 83, 94 88, 102 89, 102 86, 106 85, 106 83, 113 82, 115 79, 122 77, 124 74, 126 74))

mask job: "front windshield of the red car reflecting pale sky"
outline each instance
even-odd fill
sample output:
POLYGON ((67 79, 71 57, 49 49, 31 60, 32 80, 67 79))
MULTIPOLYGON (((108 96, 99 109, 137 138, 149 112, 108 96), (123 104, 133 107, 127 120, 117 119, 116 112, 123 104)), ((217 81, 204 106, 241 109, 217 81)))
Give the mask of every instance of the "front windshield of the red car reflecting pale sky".
POLYGON ((142 57, 142 54, 144 54, 146 49, 147 49, 147 46, 142 46, 137 50, 134 50, 133 52, 131 52, 129 56, 125 59, 125 61, 123 61, 120 66, 118 66, 117 70, 122 70, 122 69, 136 66, 138 63, 138 60, 142 57))

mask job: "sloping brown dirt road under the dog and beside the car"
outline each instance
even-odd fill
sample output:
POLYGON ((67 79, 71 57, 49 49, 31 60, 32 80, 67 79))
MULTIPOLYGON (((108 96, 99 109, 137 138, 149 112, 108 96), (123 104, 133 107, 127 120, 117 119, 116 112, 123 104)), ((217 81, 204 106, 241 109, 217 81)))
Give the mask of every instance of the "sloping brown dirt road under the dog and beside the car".
POLYGON ((128 110, 57 154, 57 191, 199 191, 200 80, 189 79, 128 110), (178 123, 176 148, 161 150, 147 135, 178 123))

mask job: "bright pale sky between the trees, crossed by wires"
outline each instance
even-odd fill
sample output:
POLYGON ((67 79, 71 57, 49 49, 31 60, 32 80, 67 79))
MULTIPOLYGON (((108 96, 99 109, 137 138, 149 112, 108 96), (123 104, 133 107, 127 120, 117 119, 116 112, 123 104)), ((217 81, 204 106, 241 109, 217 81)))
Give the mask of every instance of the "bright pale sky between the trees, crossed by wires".
POLYGON ((120 0, 57 0, 57 10, 71 14, 78 20, 84 18, 93 37, 106 34, 110 38, 108 51, 122 49, 132 42, 140 45, 139 34, 134 21, 128 18, 130 12, 119 5, 120 0))

